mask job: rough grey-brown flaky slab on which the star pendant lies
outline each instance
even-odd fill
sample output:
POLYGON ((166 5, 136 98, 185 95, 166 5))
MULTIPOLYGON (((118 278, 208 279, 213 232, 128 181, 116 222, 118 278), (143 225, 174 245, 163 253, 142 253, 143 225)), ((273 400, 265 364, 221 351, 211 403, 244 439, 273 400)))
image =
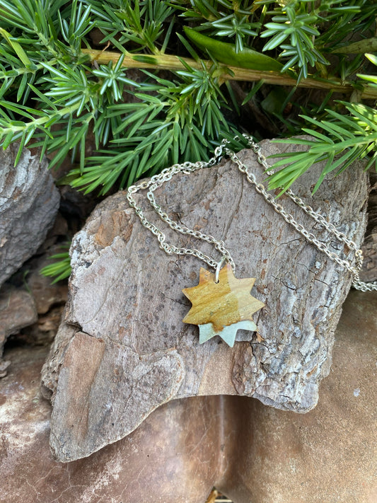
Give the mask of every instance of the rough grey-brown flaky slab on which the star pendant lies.
MULTIPOLYGON (((262 145, 265 155, 282 149, 262 145)), ((240 158, 258 180, 265 178, 253 151, 240 158)), ((295 192, 360 244, 366 173, 355 165, 326 180, 312 200, 321 168, 303 175, 295 192)), ((266 304, 255 318, 259 335, 245 332, 233 348, 219 337, 199 345, 197 326, 182 323, 190 309, 182 288, 197 285, 202 262, 163 253, 124 192, 109 197, 74 238, 66 317, 43 371, 45 386, 52 386, 51 445, 60 461, 121 439, 176 398, 238 394, 308 412, 330 370, 334 330, 351 284, 347 270, 286 224, 231 161, 176 175, 156 191, 156 200, 191 229, 224 238, 236 277, 257 278, 251 293, 266 304)), ((289 197, 279 203, 332 252, 342 253, 289 197)), ((168 243, 214 255, 207 243, 163 229, 168 243)))

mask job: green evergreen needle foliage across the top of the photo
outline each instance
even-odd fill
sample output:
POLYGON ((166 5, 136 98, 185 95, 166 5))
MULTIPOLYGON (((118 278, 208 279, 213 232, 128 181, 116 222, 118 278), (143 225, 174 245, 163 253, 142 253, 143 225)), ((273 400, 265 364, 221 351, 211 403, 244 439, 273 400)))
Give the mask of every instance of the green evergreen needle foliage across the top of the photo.
MULTIPOLYGON (((105 194, 172 163, 209 158, 222 137, 239 133, 228 120, 229 110, 240 105, 231 79, 258 81, 250 85, 250 100, 271 74, 277 84, 346 92, 350 99, 303 110, 300 122, 274 111, 282 134, 306 132, 315 140, 299 141, 311 146, 310 154, 287 154, 284 162, 290 164, 272 175, 271 187, 288 187, 323 158, 323 174, 347 168, 358 156, 368 156, 371 166, 376 112, 357 102, 360 96, 377 97, 370 71, 374 56, 364 56, 376 47, 375 5, 373 0, 4 0, 1 146, 19 141, 20 154, 27 144, 40 146, 41 155, 56 151, 50 166, 71 153, 76 167, 69 183, 105 194), (103 51, 92 47, 93 30, 101 34, 103 51), (350 34, 358 40, 350 43, 350 34), (200 43, 203 35, 207 50, 200 43), (141 75, 129 75, 130 67, 141 75), (95 151, 86 158, 91 134, 95 151)), ((233 145, 241 146, 242 140, 233 145)))

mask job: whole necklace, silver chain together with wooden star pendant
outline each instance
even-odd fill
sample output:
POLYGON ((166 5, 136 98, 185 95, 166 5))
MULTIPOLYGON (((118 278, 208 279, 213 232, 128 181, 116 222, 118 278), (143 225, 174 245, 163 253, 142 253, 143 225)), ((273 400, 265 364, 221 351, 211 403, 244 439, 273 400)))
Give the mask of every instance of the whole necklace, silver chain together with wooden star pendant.
MULTIPOLYGON (((271 166, 267 163, 267 159, 263 156, 260 151, 260 146, 253 141, 248 135, 244 135, 248 140, 249 148, 253 149, 255 155, 257 156, 257 161, 265 168, 268 175, 272 174, 270 170, 271 166)), ((238 137, 236 137, 237 139, 238 137)), ((243 278, 237 279, 234 275, 236 270, 236 265, 231 257, 231 253, 226 248, 224 241, 218 240, 209 234, 204 234, 200 231, 190 229, 185 225, 178 224, 178 222, 170 219, 170 216, 161 208, 161 206, 156 202, 154 197, 154 191, 161 187, 164 183, 168 182, 177 173, 190 174, 197 170, 203 168, 209 168, 216 165, 221 161, 224 155, 231 158, 231 161, 236 164, 240 173, 245 175, 246 180, 250 183, 255 190, 265 198, 268 204, 270 204, 274 211, 280 214, 283 219, 288 222, 291 226, 296 229, 298 233, 301 234, 306 241, 315 246, 318 250, 325 253, 330 260, 337 262, 337 264, 344 267, 352 274, 352 286, 360 291, 372 291, 377 290, 377 282, 361 282, 359 278, 359 271, 361 270, 361 265, 363 262, 363 255, 361 250, 357 247, 354 241, 347 238, 347 236, 337 230, 333 224, 327 221, 325 216, 315 212, 315 210, 303 202, 300 197, 298 197, 290 189, 286 190, 286 195, 291 198, 291 200, 301 207, 303 212, 311 216, 311 218, 318 224, 323 226, 332 236, 335 236, 338 241, 347 245, 350 251, 354 252, 354 256, 351 260, 346 260, 341 258, 337 253, 334 253, 330 248, 323 243, 323 241, 318 240, 315 235, 305 229, 305 227, 299 224, 294 216, 286 212, 282 204, 276 202, 274 197, 267 192, 266 188, 262 183, 257 183, 255 175, 250 173, 245 164, 240 161, 240 158, 236 155, 234 151, 228 148, 228 140, 224 139, 221 144, 216 147, 214 151, 214 157, 209 161, 197 161, 196 163, 185 162, 182 164, 175 164, 166 168, 158 175, 153 175, 149 180, 144 180, 137 185, 132 185, 129 187, 127 192, 127 200, 129 205, 134 209, 137 216, 141 221, 141 224, 156 236, 159 246, 168 255, 193 255, 202 262, 206 263, 214 272, 210 272, 203 267, 200 269, 199 273, 199 284, 196 287, 185 288, 182 290, 183 294, 192 303, 189 313, 183 319, 184 323, 192 323, 199 326, 199 343, 202 344, 207 340, 211 339, 215 335, 219 335, 224 342, 226 342, 230 347, 233 347, 236 340, 237 330, 251 330, 257 332, 257 325, 253 321, 253 314, 259 311, 264 303, 255 299, 250 294, 255 278, 243 278), (205 255, 202 251, 197 248, 180 248, 173 244, 166 243, 166 236, 153 222, 146 219, 146 216, 137 205, 134 195, 139 190, 147 190, 146 197, 149 200, 151 207, 153 207, 154 212, 164 221, 170 229, 181 233, 183 235, 193 236, 198 240, 207 241, 214 246, 214 249, 220 253, 221 259, 214 260, 209 255, 205 255)))

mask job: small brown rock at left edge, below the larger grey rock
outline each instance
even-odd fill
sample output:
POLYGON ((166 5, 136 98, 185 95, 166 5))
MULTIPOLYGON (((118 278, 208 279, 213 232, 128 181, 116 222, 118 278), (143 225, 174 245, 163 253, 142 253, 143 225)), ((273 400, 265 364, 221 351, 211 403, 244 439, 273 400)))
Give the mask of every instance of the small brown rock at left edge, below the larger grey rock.
POLYGON ((8 336, 33 325, 36 321, 37 311, 33 296, 25 289, 4 285, 0 291, 0 357, 8 336))

